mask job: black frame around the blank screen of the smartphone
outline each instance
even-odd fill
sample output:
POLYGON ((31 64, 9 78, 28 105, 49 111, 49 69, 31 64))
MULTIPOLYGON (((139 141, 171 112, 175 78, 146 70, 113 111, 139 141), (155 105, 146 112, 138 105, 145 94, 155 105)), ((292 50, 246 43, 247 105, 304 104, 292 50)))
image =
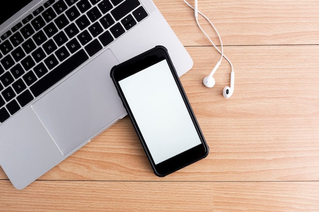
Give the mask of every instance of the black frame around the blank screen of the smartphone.
POLYGON ((111 78, 113 79, 116 88, 118 90, 119 96, 123 102, 123 105, 129 115, 129 118, 131 120, 131 123, 134 125, 134 129, 142 143, 142 146, 145 150, 145 153, 148 157, 148 160, 151 163, 151 166, 153 168, 154 173, 157 176, 166 176, 167 174, 170 174, 178 169, 181 169, 185 166, 188 166, 202 158, 205 158, 208 155, 208 145, 205 141, 205 138, 201 132, 201 129, 198 125, 197 119, 194 115, 194 112, 192 110, 192 107, 188 101, 187 96, 185 95, 184 89, 179 81, 179 78, 177 76, 177 73, 175 71, 175 68, 171 62, 171 59, 169 57, 169 54, 167 52, 167 49, 163 46, 156 46, 153 49, 150 49, 149 51, 146 51, 134 58, 131 58, 127 60, 126 62, 119 64, 112 68, 111 70, 111 78), (186 150, 183 153, 180 153, 170 159, 167 159, 166 161, 163 161, 161 163, 155 164, 153 161, 153 158, 150 154, 150 151, 147 147, 147 144, 144 140, 144 137, 139 129, 139 126, 136 122, 136 119, 134 117, 134 114, 132 114, 130 107, 126 101, 126 98, 122 92, 122 89, 119 85, 119 81, 129 77, 131 75, 134 75, 138 73, 139 71, 142 71, 158 62, 161 62, 162 60, 166 59, 170 71, 172 73, 172 76, 175 80, 175 83, 179 89, 180 95, 184 101, 185 106, 188 109, 189 115, 193 121, 194 127, 197 131, 197 134, 201 140, 201 144, 186 150))

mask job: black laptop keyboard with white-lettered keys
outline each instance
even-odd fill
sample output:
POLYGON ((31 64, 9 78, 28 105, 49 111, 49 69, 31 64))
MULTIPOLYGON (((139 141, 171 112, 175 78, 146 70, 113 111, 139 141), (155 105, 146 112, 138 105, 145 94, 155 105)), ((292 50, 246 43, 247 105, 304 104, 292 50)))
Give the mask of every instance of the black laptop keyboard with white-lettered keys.
POLYGON ((138 0, 49 0, 0 42, 0 123, 147 17, 138 0))

